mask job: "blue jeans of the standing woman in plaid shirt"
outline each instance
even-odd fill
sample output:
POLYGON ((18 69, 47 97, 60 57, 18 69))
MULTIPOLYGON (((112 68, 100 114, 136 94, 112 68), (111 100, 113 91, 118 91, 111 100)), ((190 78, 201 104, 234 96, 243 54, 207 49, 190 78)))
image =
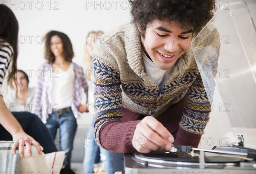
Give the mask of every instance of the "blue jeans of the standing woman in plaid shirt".
POLYGON ((60 151, 65 152, 65 163, 70 168, 71 151, 76 135, 77 123, 72 111, 64 114, 50 114, 46 126, 55 139, 57 129, 60 129, 60 151))

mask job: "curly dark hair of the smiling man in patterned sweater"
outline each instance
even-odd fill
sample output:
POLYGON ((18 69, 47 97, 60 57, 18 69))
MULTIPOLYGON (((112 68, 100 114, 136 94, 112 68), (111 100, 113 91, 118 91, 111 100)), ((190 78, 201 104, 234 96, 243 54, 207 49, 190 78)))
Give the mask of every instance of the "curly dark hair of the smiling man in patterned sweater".
POLYGON ((215 0, 129 0, 134 23, 145 34, 149 22, 158 20, 175 21, 182 28, 193 27, 199 32, 212 18, 215 0))

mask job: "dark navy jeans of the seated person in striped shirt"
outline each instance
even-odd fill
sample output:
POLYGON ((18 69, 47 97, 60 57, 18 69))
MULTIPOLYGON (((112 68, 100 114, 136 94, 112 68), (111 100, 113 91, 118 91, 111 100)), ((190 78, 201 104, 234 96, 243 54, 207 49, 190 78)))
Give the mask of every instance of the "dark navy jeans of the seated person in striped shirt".
MULTIPOLYGON (((20 123, 23 130, 40 143, 44 148, 43 151, 45 154, 58 151, 51 134, 38 116, 30 112, 12 112, 12 114, 20 123)), ((12 140, 12 135, 2 125, 0 125, 0 132, 0 140, 12 140)))

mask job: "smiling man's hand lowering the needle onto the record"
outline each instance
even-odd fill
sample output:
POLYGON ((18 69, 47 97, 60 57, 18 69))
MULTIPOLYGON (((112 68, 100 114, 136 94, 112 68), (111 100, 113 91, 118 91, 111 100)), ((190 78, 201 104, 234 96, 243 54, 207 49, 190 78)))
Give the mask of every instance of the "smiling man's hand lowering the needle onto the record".
POLYGON ((136 126, 132 145, 141 153, 149 153, 160 149, 169 151, 173 142, 172 134, 157 119, 147 116, 136 126))

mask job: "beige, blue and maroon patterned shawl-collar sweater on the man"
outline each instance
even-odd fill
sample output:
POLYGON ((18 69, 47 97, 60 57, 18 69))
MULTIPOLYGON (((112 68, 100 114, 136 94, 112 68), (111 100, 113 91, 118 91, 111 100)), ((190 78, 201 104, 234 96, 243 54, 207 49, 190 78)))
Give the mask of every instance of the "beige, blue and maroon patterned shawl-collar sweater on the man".
POLYGON ((160 122, 170 132, 178 130, 175 145, 197 147, 209 121, 211 106, 191 48, 177 60, 160 90, 143 68, 140 32, 134 24, 120 26, 102 38, 93 55, 96 142, 110 151, 136 151, 132 139, 140 120, 134 116, 122 118, 122 108, 157 118, 186 97, 180 120, 172 119, 170 113, 160 122))

